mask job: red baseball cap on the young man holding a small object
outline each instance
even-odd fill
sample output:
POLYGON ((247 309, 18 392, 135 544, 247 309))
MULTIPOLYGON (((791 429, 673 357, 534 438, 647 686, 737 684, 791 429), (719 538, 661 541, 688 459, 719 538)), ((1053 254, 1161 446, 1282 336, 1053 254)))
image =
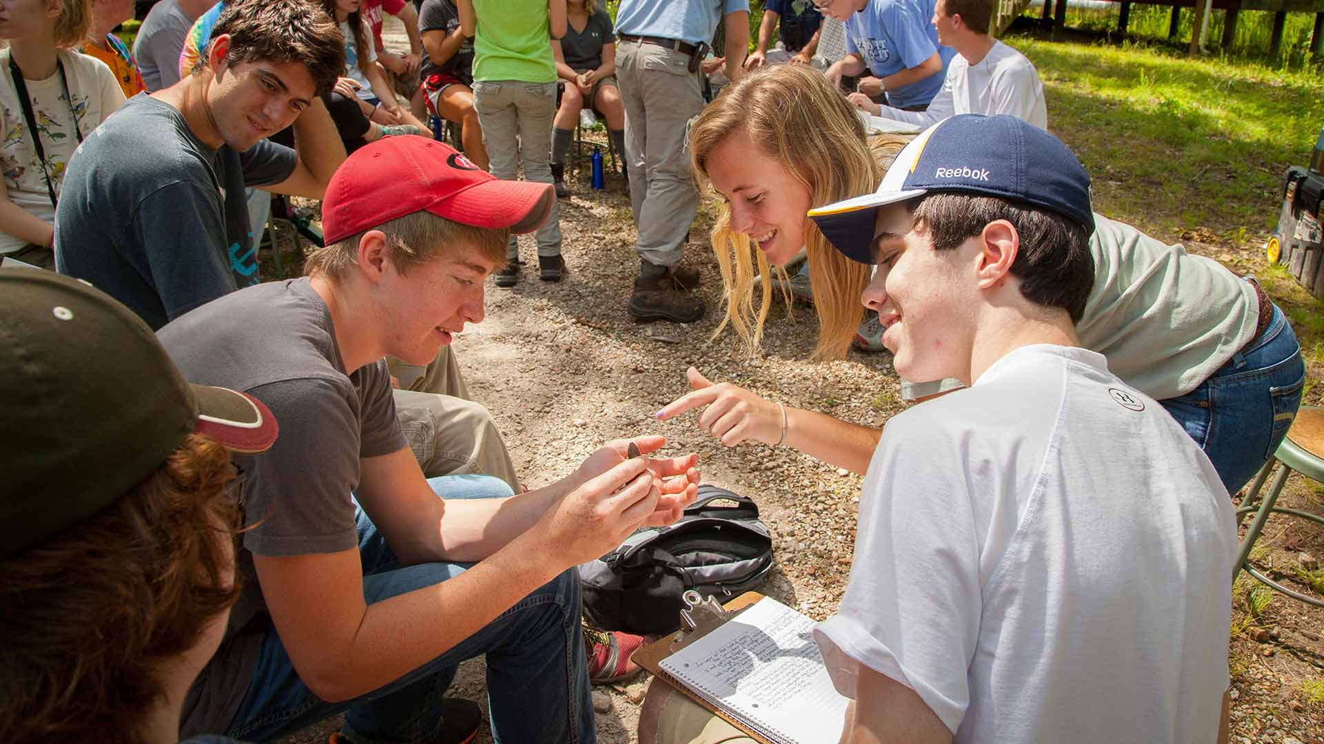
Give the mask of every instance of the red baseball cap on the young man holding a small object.
POLYGON ((330 245, 424 209, 475 228, 531 233, 555 205, 552 184, 503 181, 450 146, 416 135, 384 136, 359 148, 331 176, 322 234, 330 245))

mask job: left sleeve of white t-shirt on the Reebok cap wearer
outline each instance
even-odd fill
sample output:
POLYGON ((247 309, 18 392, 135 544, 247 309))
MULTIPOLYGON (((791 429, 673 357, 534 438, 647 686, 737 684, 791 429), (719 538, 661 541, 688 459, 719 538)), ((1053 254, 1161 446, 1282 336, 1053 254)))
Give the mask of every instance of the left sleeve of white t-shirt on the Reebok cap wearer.
POLYGON ((922 418, 894 418, 865 477, 850 582, 816 637, 838 691, 861 665, 914 690, 955 733, 981 614, 968 455, 922 418))

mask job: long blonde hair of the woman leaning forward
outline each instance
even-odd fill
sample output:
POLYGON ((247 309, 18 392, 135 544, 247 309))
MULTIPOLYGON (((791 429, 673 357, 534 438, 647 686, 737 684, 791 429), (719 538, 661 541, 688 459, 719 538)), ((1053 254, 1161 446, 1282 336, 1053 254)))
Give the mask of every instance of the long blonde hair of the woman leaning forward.
MULTIPOLYGON (((805 65, 776 65, 743 77, 722 91, 690 130, 690 154, 700 193, 712 195, 707 160, 726 138, 745 132, 792 176, 809 188, 812 205, 821 207, 869 193, 878 187, 886 165, 870 151, 865 127, 855 109, 818 70, 805 65)), ((904 140, 896 140, 904 144, 904 140)), ((895 156, 900 146, 879 144, 895 156)), ((888 159, 890 163, 890 159, 888 159)), ((731 208, 722 205, 712 226, 712 252, 726 289, 726 315, 714 336, 730 323, 751 353, 763 339, 763 326, 772 307, 773 269, 749 237, 731 229, 731 208), (753 297, 755 267, 763 277, 763 293, 753 297)), ((835 250, 818 226, 805 217, 805 249, 809 281, 818 314, 818 346, 814 359, 839 359, 863 316, 859 295, 871 270, 835 250)), ((788 306, 789 293, 782 293, 788 306)))

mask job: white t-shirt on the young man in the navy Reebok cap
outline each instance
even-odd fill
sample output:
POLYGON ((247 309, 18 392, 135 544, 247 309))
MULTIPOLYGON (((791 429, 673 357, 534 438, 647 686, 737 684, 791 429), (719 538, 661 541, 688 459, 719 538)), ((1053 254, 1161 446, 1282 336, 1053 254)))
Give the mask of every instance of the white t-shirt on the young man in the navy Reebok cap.
POLYGON ((1029 346, 892 417, 818 645, 956 741, 1213 741, 1237 531, 1209 458, 1100 355, 1029 346))

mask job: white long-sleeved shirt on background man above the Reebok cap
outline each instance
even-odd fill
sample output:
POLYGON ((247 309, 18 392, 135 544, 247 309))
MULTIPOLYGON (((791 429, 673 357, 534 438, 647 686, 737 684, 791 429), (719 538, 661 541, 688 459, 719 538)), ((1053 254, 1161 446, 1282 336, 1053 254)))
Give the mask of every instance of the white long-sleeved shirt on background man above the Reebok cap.
POLYGON ((956 114, 1010 114, 1041 130, 1049 127, 1043 83, 1034 65, 1001 41, 977 65, 957 54, 947 66, 947 79, 924 111, 903 111, 883 106, 879 116, 931 126, 956 114))

